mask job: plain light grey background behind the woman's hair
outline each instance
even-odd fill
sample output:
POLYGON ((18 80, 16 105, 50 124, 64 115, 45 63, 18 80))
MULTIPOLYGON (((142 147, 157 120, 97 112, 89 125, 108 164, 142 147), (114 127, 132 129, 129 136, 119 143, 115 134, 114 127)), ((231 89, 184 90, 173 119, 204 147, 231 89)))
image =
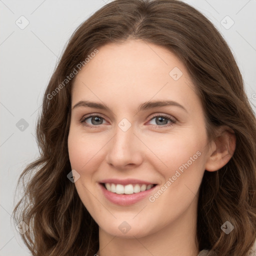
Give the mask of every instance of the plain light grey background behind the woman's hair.
MULTIPOLYGON (((0 0, 0 256, 30 255, 11 212, 17 178, 38 155, 34 134, 43 92, 71 33, 107 2, 0 0), (19 126, 21 118, 28 127, 19 126)), ((248 98, 256 105, 256 0, 185 2, 204 13, 224 36, 248 98)))

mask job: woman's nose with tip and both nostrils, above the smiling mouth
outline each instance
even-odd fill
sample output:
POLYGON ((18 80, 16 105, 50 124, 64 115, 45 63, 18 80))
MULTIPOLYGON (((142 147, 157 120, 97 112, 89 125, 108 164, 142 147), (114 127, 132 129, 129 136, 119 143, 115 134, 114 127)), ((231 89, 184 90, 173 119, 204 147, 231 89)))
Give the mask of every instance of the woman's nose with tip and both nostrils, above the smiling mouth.
POLYGON ((106 161, 118 169, 138 166, 142 162, 142 143, 133 133, 133 127, 123 131, 119 126, 108 142, 106 161))

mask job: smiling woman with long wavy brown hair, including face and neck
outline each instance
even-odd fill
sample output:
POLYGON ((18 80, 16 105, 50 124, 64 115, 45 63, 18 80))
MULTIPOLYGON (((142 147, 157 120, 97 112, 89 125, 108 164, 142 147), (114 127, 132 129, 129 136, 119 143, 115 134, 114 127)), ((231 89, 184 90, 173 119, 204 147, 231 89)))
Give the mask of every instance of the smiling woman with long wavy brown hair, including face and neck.
POLYGON ((226 42, 188 4, 115 0, 82 23, 37 139, 14 208, 32 255, 253 255, 255 116, 226 42))

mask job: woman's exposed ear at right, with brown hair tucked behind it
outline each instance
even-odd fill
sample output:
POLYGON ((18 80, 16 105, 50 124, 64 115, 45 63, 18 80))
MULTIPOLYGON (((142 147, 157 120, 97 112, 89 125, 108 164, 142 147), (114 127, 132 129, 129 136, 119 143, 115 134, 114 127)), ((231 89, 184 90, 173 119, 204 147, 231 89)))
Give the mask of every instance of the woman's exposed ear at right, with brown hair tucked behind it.
POLYGON ((215 171, 223 167, 232 157, 235 150, 236 137, 234 131, 228 126, 220 126, 217 136, 211 142, 205 170, 215 171))

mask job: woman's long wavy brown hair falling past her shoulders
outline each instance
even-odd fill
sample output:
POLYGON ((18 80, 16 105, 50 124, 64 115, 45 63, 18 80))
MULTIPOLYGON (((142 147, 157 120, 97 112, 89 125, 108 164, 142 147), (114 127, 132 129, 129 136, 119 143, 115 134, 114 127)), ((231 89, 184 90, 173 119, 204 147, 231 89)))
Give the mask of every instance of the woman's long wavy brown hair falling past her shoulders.
POLYGON ((245 256, 256 238, 255 115, 225 40, 204 15, 178 0, 114 0, 72 34, 44 94, 36 127, 40 156, 19 177, 24 194, 13 216, 16 223, 29 225, 22 239, 34 256, 97 251, 98 225, 67 178, 73 79, 65 78, 95 49, 127 39, 164 46, 184 63, 200 96, 210 139, 216 126, 235 132, 229 162, 204 172, 196 238, 199 250, 209 249, 210 256, 245 256), (229 234, 220 228, 225 221, 234 226, 229 234))

